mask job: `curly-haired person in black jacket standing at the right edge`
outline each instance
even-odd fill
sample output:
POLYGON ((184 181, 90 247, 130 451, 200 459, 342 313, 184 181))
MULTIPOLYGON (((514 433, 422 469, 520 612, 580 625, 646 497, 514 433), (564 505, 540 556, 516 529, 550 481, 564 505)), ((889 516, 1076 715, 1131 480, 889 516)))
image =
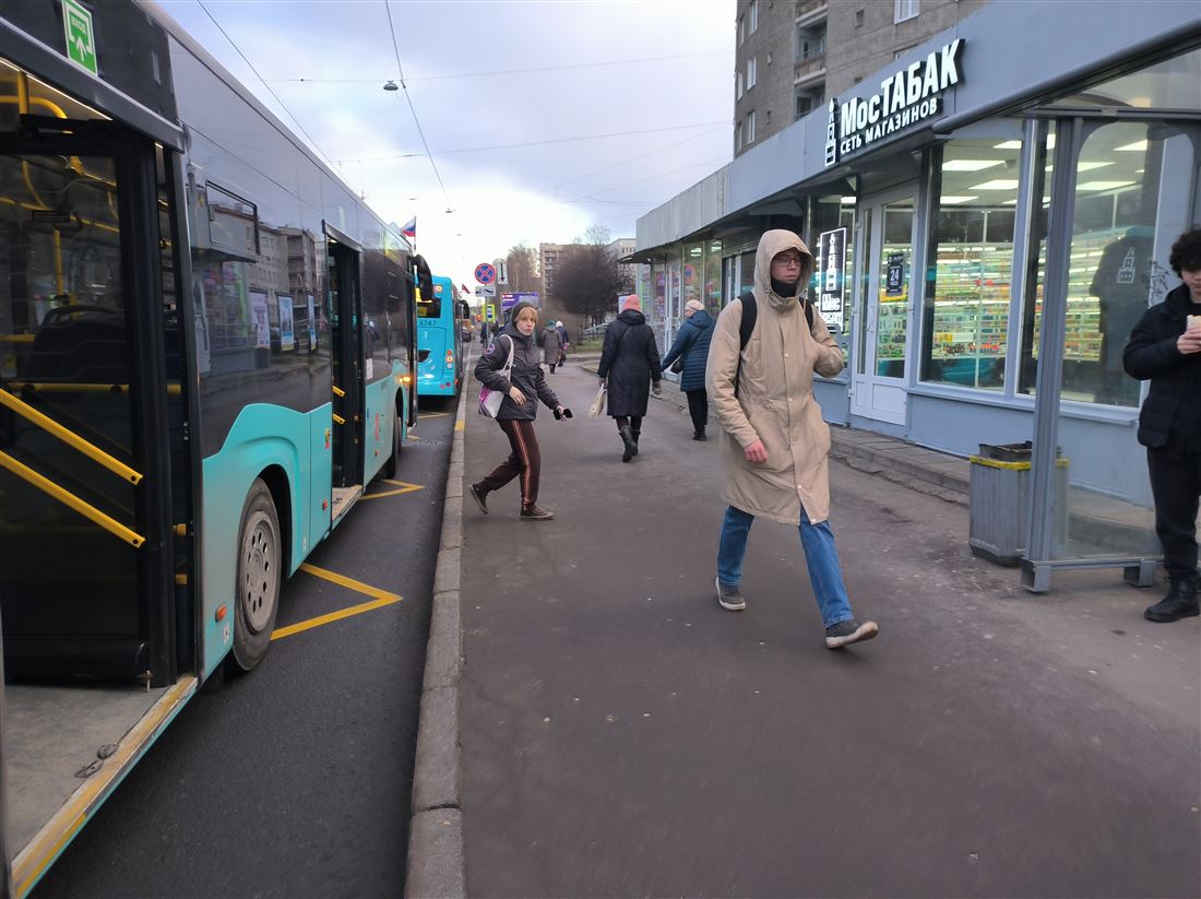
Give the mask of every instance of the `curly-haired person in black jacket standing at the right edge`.
POLYGON ((1172 244, 1169 264, 1184 284, 1143 314, 1122 353, 1128 375, 1151 381, 1139 413, 1139 442, 1147 447, 1155 534, 1171 579, 1167 595, 1143 613, 1151 621, 1176 621, 1199 613, 1201 230, 1182 234, 1172 244))

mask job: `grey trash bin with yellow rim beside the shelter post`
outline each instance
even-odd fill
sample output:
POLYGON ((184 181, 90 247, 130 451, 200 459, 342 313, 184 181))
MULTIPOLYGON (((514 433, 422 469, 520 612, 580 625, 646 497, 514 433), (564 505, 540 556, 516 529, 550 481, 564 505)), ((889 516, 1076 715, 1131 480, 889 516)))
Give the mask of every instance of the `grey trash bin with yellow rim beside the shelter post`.
MULTIPOLYGON (((968 493, 968 546, 973 554, 1005 567, 1017 567, 1029 540, 1030 441, 1024 443, 980 443, 972 463, 968 493)), ((1056 459, 1052 489, 1054 501, 1054 544, 1068 542, 1068 465, 1056 459)))

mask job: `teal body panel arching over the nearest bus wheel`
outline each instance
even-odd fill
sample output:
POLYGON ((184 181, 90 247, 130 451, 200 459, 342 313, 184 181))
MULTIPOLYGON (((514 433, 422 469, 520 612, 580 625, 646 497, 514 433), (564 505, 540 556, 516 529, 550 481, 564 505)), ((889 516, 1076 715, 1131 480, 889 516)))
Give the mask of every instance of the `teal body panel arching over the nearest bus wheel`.
POLYGON ((238 531, 243 505, 255 478, 265 469, 277 466, 287 481, 289 508, 280 508, 282 500, 276 498, 276 510, 281 526, 292 534, 288 574, 329 532, 331 480, 328 472, 333 462, 324 431, 333 425, 330 413, 329 405, 312 412, 267 404, 249 405, 238 415, 221 451, 204 459, 201 657, 205 675, 221 663, 233 645, 238 531), (321 471, 327 472, 324 481, 317 474, 321 471), (323 489, 321 484, 324 484, 323 489), (317 513, 323 502, 327 504, 324 518, 317 513), (291 526, 283 524, 285 517, 291 526), (226 615, 217 621, 216 611, 221 605, 226 606, 226 615))

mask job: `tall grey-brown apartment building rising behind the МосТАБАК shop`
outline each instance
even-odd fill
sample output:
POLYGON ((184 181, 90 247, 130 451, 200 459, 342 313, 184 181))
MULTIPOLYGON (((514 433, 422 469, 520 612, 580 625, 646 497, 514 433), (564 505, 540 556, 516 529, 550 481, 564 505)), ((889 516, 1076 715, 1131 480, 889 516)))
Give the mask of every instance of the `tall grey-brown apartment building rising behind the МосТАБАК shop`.
POLYGON ((736 0, 734 155, 988 0, 736 0))

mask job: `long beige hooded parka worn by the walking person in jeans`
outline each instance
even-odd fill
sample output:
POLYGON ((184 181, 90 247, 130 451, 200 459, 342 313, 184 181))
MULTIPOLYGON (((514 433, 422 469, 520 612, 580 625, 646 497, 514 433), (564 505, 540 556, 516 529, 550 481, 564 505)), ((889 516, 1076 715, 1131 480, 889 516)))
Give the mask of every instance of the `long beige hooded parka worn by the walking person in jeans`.
POLYGON ((754 331, 740 353, 742 302, 735 299, 722 310, 709 347, 705 387, 722 428, 723 499, 743 512, 793 525, 800 523, 803 504, 809 520, 818 524, 830 517, 830 428, 813 398, 813 373, 832 377, 844 363, 821 317, 814 311, 811 333, 799 298, 771 290, 771 261, 791 249, 805 257, 797 290, 808 288, 813 254, 791 231, 766 232, 755 254, 754 331), (755 440, 767 451, 765 463, 746 459, 743 450, 755 440))

